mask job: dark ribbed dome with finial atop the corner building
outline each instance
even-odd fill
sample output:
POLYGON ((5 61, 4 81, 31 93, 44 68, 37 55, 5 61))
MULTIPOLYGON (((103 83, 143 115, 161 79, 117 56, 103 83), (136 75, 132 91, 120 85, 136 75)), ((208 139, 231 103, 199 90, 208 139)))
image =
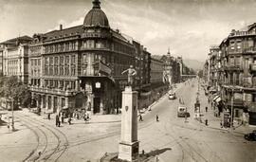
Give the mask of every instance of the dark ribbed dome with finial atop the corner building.
POLYGON ((101 10, 101 2, 93 0, 93 8, 86 14, 83 27, 106 27, 109 28, 106 14, 101 10))

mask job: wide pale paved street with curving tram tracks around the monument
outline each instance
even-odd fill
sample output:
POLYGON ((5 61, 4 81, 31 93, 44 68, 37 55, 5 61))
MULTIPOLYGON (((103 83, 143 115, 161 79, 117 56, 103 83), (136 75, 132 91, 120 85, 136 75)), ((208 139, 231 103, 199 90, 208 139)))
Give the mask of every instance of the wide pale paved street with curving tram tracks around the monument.
MULTIPOLYGON (((175 89, 177 99, 165 96, 155 103, 152 111, 142 115, 143 121, 138 121, 139 151, 153 153, 166 162, 256 161, 255 142, 246 141, 239 129, 218 129, 214 125, 213 111, 203 89, 200 89, 199 99, 201 111, 205 117, 210 117, 209 126, 193 118, 197 82, 194 79, 179 83, 175 89), (188 122, 184 117, 177 117, 179 99, 184 100, 191 114, 188 122), (209 107, 208 113, 205 106, 209 107)), ((64 123, 61 127, 55 127, 54 117, 48 120, 27 112, 15 112, 14 116, 17 131, 0 134, 1 161, 97 161, 104 153, 118 152, 119 115, 105 117, 108 121, 100 116, 101 121, 93 120, 93 116, 90 123, 74 121, 72 125, 64 123)))

